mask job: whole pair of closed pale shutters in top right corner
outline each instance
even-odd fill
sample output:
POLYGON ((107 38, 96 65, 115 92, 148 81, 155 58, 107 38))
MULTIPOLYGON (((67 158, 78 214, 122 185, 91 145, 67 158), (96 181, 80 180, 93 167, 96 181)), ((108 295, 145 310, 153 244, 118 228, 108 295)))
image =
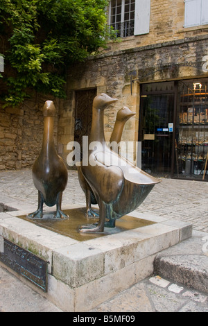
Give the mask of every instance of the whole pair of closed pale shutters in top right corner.
POLYGON ((185 0, 184 27, 208 24, 208 1, 185 0))

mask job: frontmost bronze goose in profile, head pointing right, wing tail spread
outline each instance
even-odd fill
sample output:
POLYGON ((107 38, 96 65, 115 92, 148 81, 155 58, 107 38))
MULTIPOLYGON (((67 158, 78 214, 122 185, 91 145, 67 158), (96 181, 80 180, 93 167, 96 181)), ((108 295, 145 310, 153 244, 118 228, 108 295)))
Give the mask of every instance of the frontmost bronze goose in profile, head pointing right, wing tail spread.
POLYGON ((99 221, 96 227, 83 227, 80 232, 103 232, 106 216, 112 226, 116 218, 136 209, 159 180, 134 166, 128 160, 110 151, 105 144, 103 111, 115 98, 98 95, 93 101, 92 129, 89 144, 96 141, 89 150, 89 164, 80 169, 92 189, 99 206, 99 221))

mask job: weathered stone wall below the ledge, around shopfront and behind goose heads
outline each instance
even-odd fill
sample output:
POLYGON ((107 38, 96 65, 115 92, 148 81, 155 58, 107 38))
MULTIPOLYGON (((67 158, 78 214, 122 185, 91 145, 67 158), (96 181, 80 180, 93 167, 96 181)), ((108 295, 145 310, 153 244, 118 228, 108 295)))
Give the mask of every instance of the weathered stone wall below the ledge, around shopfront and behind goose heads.
MULTIPOLYGON (((106 140, 110 139, 114 128, 116 112, 125 105, 136 112, 136 116, 126 123, 122 140, 137 141, 141 83, 207 77, 207 46, 208 35, 197 35, 123 51, 110 51, 89 58, 85 65, 76 65, 70 69, 67 80, 69 98, 71 98, 68 103, 70 108, 68 114, 71 114, 71 121, 73 121, 75 107, 74 90, 96 87, 97 94, 104 92, 118 98, 114 105, 105 110, 106 140)), ((136 162, 137 148, 133 147, 130 152, 128 158, 136 162)), ((67 157, 67 153, 69 152, 67 152, 66 142, 64 157, 67 157)))

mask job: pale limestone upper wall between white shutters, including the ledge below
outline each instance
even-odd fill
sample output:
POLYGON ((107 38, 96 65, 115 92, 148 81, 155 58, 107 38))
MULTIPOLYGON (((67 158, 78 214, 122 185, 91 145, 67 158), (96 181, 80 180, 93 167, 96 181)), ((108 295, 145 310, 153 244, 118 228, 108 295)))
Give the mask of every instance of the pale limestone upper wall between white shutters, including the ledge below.
POLYGON ((151 0, 149 33, 110 42, 107 52, 207 35, 208 25, 184 28, 184 9, 184 0, 151 0))

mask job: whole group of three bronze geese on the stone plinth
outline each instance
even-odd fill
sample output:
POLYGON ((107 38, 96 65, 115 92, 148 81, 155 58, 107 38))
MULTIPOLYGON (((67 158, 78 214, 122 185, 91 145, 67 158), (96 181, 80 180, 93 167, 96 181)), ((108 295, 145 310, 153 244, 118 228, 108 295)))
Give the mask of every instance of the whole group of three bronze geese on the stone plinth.
MULTIPOLYGON (((103 232, 104 227, 115 227, 117 218, 135 210, 148 196, 154 185, 160 182, 145 173, 118 151, 113 151, 105 142, 104 110, 116 102, 107 94, 99 94, 92 105, 92 128, 89 135, 88 164, 78 166, 80 186, 85 192, 87 216, 94 215, 91 204, 99 207, 98 223, 83 226, 81 233, 103 232), (94 145, 94 146, 92 146, 94 145)), ((121 141, 125 122, 135 114, 127 107, 119 110, 110 142, 121 141)), ((54 218, 68 218, 61 210, 62 193, 67 187, 67 167, 55 150, 53 141, 53 124, 55 106, 46 101, 43 108, 44 135, 40 155, 33 164, 33 182, 38 191, 38 207, 29 218, 42 218, 44 203, 51 207, 56 205, 54 218)), ((86 157, 85 157, 86 158, 86 157)), ((86 162, 86 160, 85 160, 86 162)))

